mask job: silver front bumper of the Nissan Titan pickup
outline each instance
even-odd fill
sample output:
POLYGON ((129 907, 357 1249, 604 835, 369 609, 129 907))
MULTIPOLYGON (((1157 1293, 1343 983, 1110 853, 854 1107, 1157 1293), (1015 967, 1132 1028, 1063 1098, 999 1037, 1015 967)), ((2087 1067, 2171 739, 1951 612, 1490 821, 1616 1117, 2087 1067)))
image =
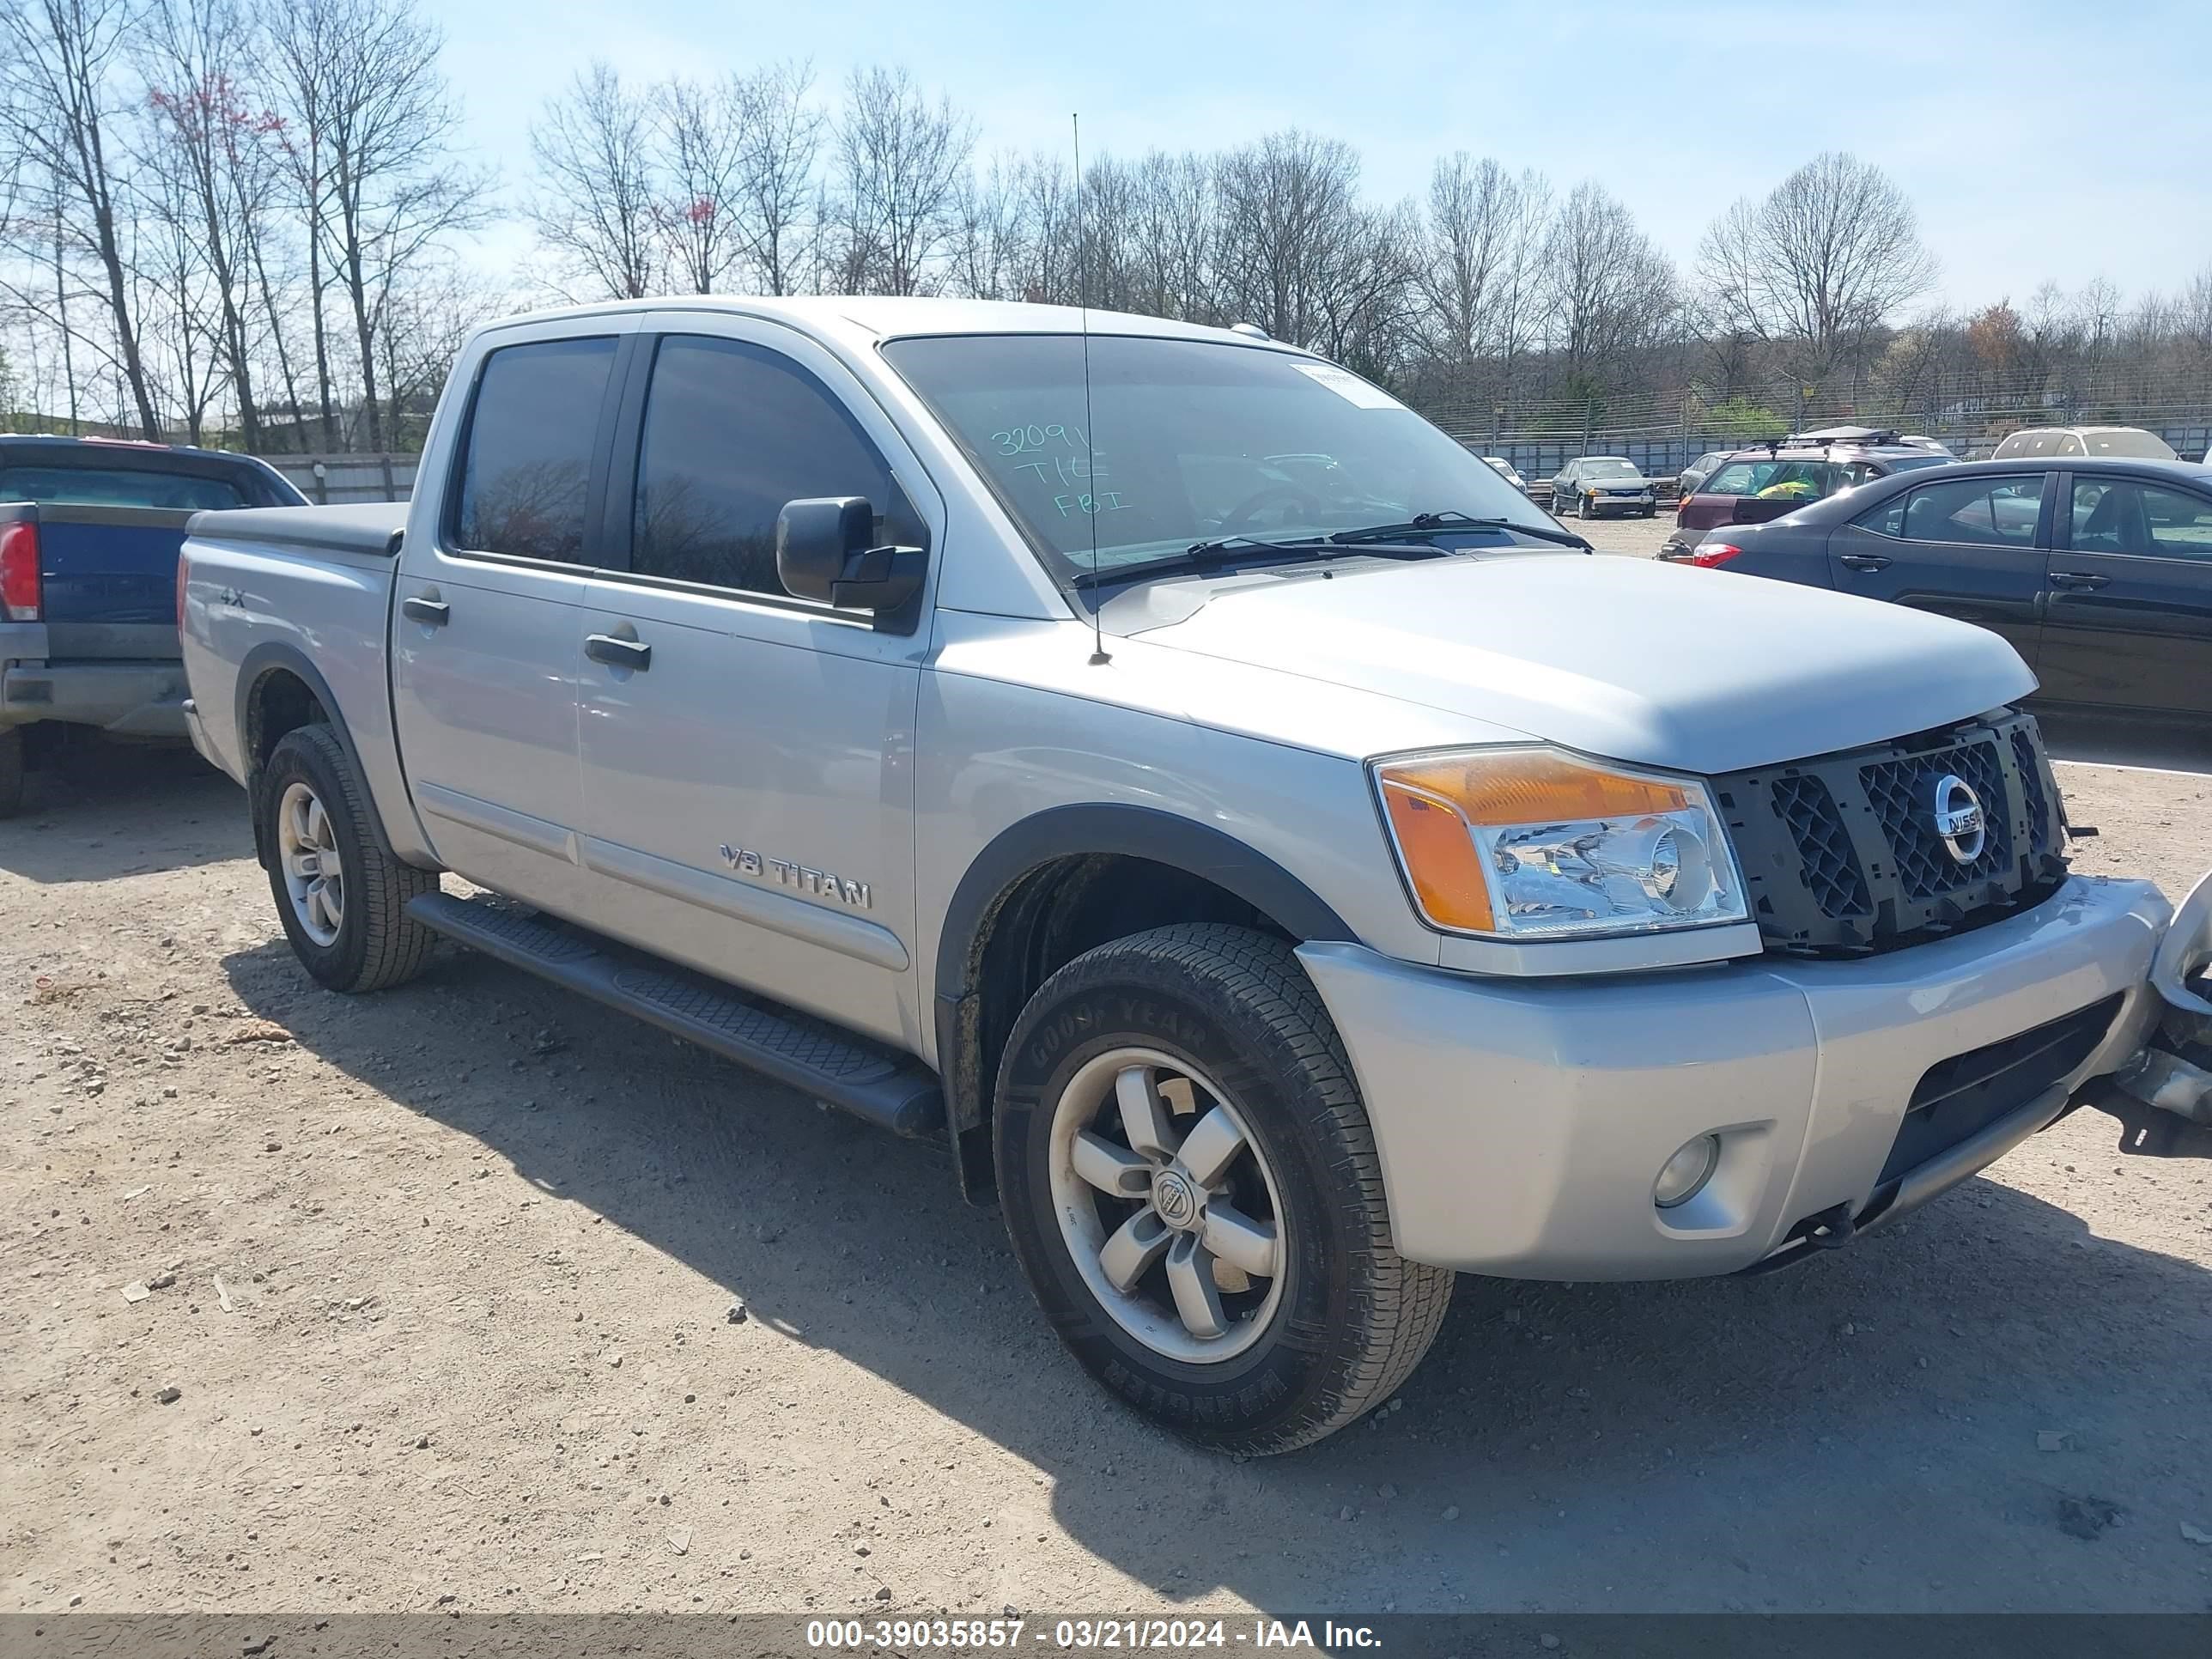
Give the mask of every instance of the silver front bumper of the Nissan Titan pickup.
POLYGON ((1506 980, 1358 945, 1298 956, 1367 1099, 1402 1254, 1509 1279, 1690 1279, 1812 1248, 1812 1223, 1834 1239, 1905 1214, 2057 1119, 2143 1048, 2168 918, 2150 883, 2073 876, 2024 916, 1860 960, 1506 980), (2086 1057, 1891 1164, 1931 1068, 2108 1000, 2086 1057), (1655 1208, 1659 1168, 1699 1135, 1721 1139, 1712 1179, 1655 1208))

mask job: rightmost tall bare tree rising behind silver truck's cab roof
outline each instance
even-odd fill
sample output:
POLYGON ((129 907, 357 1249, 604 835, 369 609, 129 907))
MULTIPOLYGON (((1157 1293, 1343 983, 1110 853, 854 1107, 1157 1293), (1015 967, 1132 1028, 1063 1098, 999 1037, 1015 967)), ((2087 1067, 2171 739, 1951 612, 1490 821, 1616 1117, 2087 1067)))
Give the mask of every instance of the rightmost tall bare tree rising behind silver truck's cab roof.
POLYGON ((953 234, 973 124, 905 69, 856 69, 836 122, 834 270, 858 292, 922 294, 953 234))

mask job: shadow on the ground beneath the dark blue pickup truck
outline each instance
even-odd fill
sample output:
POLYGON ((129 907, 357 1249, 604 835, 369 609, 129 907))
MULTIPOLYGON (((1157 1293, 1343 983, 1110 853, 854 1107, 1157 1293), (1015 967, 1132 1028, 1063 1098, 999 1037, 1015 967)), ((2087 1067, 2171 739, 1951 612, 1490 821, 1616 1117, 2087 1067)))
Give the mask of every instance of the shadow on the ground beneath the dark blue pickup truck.
POLYGON ((40 885, 192 869, 252 854, 246 796, 192 750, 102 743, 24 779, 0 869, 40 885))

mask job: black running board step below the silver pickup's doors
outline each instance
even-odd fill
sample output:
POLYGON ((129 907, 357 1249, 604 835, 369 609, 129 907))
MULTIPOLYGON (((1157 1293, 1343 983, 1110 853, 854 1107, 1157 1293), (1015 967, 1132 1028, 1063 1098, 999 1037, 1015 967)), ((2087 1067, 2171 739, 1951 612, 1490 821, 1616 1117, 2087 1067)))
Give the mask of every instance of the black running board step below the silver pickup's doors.
POLYGON ((422 894, 407 902, 407 914, 449 940, 633 1013, 894 1135, 929 1135, 945 1121, 936 1073, 920 1060, 796 1009, 500 898, 422 894))

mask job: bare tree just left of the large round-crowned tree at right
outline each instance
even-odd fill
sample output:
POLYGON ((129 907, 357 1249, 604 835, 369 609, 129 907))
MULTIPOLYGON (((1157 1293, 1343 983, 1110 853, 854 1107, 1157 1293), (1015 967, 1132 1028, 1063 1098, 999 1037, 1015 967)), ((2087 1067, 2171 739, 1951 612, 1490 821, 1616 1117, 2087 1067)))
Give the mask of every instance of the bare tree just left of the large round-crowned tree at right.
POLYGON ((1571 376, 1601 378, 1679 307, 1674 268, 1599 184, 1577 184, 1544 237, 1551 341, 1571 376))

